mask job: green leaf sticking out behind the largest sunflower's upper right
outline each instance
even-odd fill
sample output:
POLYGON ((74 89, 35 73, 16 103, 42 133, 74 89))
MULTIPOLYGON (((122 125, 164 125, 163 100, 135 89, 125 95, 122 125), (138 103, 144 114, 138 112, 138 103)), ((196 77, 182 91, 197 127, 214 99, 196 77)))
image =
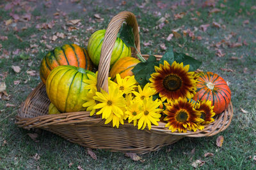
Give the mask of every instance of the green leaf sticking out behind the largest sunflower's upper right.
POLYGON ((189 64, 189 71, 195 71, 202 64, 201 61, 196 60, 193 57, 186 55, 185 53, 174 52, 174 60, 179 63, 183 62, 184 66, 189 64))

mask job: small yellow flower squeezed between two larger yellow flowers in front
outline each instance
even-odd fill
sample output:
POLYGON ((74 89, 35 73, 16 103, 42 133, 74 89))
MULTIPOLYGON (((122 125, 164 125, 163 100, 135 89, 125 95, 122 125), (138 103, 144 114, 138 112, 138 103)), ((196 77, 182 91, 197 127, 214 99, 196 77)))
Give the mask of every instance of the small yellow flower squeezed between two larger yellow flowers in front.
POLYGON ((137 124, 137 115, 139 115, 142 111, 141 104, 136 101, 131 101, 129 106, 126 106, 125 115, 128 117, 128 122, 131 123, 133 120, 133 125, 137 124), (135 118, 134 118, 135 117, 135 118))

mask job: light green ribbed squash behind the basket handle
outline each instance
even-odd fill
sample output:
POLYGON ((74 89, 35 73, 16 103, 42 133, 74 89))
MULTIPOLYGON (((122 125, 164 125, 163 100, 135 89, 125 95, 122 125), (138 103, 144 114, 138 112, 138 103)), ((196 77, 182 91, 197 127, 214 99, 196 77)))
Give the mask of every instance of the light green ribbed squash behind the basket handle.
MULTIPOLYGON (((95 64, 95 66, 99 66, 100 52, 105 32, 105 29, 98 30, 94 32, 88 40, 88 53, 90 59, 92 60, 93 64, 95 64)), ((116 38, 115 46, 111 55, 110 66, 112 66, 116 62, 116 60, 127 56, 131 56, 131 48, 129 46, 126 46, 122 39, 116 38)))

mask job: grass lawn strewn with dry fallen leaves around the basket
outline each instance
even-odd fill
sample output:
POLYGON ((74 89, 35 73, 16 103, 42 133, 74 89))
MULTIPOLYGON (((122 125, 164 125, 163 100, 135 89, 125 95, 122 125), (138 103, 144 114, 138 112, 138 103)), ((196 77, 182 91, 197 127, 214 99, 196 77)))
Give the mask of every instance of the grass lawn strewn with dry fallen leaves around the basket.
POLYGON ((256 2, 219 1, 1 1, 0 169, 199 169, 256 168, 256 2), (56 46, 86 46, 92 32, 106 29, 120 11, 140 26, 141 53, 161 54, 173 46, 219 74, 232 92, 234 117, 228 129, 207 138, 183 138, 133 161, 124 153, 93 150, 47 131, 15 125, 22 101, 40 83, 42 57, 56 46), (95 14, 98 14, 99 17, 95 14), (69 20, 81 20, 68 25, 69 20), (185 32, 187 32, 185 34, 185 32), (61 35, 63 33, 63 36, 61 35), (172 39, 167 39, 170 34, 172 39), (55 37, 56 36, 56 37, 55 37), (12 66, 19 66, 15 72, 12 66), (34 72, 33 72, 34 71, 34 72), (28 134, 37 133, 33 141, 28 134), (222 147, 216 146, 218 136, 222 147), (205 153, 213 153, 205 157, 205 153))

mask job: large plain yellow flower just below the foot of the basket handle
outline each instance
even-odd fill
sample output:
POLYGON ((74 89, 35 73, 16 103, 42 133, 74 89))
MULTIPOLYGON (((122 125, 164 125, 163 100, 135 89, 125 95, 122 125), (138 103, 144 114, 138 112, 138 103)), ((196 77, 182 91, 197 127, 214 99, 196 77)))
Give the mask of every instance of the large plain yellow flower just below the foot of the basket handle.
POLYGON ((108 119, 111 113, 114 113, 116 117, 124 118, 125 99, 116 86, 109 86, 109 93, 101 89, 101 92, 95 94, 93 99, 99 103, 93 109, 100 109, 96 115, 102 114, 102 118, 108 119))

